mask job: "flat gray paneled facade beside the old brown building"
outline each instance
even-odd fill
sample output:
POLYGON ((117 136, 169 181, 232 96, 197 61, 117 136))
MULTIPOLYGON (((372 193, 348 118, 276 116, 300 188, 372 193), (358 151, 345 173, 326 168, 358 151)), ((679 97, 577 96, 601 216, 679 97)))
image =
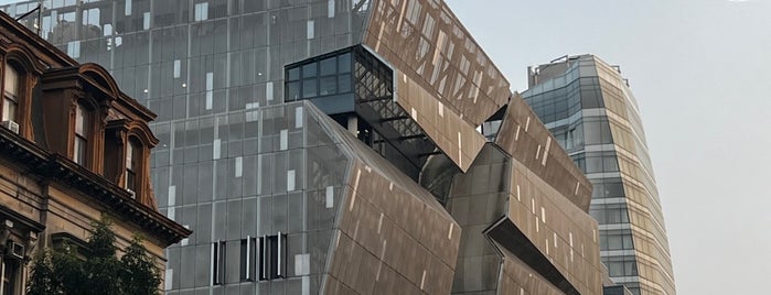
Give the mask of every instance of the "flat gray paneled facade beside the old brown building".
MULTIPOLYGON (((39 3, 41 18, 22 23, 103 65, 158 113, 159 208, 194 229, 167 250, 167 293, 317 294, 350 161, 303 103, 283 103, 283 69, 357 44, 371 1, 44 0, 2 10, 15 17, 39 3)), ((352 87, 328 85, 325 68, 321 94, 352 87)))

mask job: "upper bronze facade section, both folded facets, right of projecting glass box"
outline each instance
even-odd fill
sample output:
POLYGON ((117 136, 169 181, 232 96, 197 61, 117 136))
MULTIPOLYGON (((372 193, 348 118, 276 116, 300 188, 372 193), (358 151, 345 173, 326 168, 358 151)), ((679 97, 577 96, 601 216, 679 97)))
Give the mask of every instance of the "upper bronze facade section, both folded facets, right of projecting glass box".
POLYGON ((394 67, 397 105, 465 172, 510 84, 447 4, 375 0, 362 43, 394 67))

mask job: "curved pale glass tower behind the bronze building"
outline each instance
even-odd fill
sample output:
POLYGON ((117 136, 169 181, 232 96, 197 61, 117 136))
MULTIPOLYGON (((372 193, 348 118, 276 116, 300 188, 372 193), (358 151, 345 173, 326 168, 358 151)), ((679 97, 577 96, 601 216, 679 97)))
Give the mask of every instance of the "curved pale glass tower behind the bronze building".
POLYGON ((634 294, 675 294, 670 247, 638 103, 592 55, 528 69, 525 101, 591 179, 602 262, 634 294))

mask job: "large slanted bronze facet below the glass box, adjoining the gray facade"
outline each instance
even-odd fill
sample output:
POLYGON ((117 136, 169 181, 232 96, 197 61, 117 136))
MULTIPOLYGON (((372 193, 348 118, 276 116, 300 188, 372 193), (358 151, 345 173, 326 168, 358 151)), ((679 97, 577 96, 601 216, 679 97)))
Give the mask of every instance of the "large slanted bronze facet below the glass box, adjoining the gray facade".
MULTIPOLYGON (((323 116, 309 107, 310 116, 323 116)), ((330 121, 330 120, 326 120, 330 121)), ((447 294, 460 226, 425 188, 360 142, 320 121, 353 161, 330 247, 324 292, 447 294)))

